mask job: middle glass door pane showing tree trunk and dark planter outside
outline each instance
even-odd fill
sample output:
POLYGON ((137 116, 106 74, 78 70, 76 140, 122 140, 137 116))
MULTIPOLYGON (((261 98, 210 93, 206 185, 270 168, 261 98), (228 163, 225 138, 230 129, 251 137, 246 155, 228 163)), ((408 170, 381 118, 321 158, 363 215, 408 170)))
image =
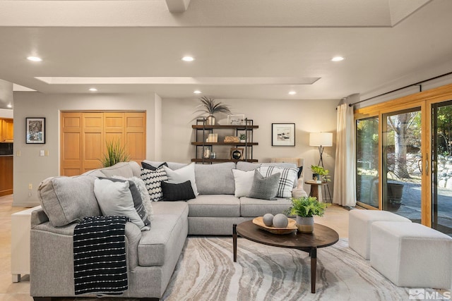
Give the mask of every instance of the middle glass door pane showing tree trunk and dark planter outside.
POLYGON ((383 114, 383 210, 421 222, 422 126, 420 108, 383 114))

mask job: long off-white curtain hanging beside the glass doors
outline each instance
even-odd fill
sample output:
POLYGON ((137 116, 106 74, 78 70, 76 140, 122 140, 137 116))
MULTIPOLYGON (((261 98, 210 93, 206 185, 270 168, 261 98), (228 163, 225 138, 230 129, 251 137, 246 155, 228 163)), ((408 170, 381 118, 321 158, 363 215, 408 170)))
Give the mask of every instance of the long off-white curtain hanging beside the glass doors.
POLYGON ((355 121, 352 106, 338 106, 337 129, 333 203, 355 207, 355 121))

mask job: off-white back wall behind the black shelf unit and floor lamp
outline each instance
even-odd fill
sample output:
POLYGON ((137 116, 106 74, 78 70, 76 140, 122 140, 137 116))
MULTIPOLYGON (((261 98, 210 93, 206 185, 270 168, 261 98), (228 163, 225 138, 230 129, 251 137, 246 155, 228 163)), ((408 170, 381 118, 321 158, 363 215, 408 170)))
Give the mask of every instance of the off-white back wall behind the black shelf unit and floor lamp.
MULTIPOLYGON (((273 157, 304 158, 305 177, 311 178, 309 166, 319 163, 319 150, 309 147, 309 133, 332 132, 333 147, 326 147, 323 153, 325 167, 334 175, 336 111, 338 99, 329 100, 262 100, 262 99, 218 99, 230 105, 232 113, 244 113, 246 118, 253 119, 255 125, 254 159, 268 162, 273 157), (271 124, 295 123, 295 147, 272 147, 271 124)), ((194 130, 191 125, 196 117, 193 113, 199 104, 197 99, 163 99, 162 101, 162 156, 161 161, 189 162, 194 158, 194 130)), ((219 124, 225 124, 226 116, 217 116, 219 124)), ((227 147, 223 147, 228 152, 227 147)), ((220 147, 217 147, 220 149, 220 147)), ((215 149, 214 149, 215 151, 215 149)), ((219 154, 217 154, 219 156, 219 154)), ((331 178, 333 181, 333 177, 331 178)), ((331 195, 333 185, 330 184, 331 195)), ((309 189, 309 185, 305 186, 309 189)))

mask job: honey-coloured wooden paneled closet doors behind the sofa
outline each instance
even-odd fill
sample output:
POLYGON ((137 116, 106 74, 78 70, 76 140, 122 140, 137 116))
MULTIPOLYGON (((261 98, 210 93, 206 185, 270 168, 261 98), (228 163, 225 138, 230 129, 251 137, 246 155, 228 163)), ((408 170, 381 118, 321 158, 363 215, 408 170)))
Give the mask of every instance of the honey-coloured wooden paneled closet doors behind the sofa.
POLYGON ((102 167, 106 143, 118 140, 131 161, 146 156, 146 115, 141 111, 62 111, 60 174, 76 176, 102 167))

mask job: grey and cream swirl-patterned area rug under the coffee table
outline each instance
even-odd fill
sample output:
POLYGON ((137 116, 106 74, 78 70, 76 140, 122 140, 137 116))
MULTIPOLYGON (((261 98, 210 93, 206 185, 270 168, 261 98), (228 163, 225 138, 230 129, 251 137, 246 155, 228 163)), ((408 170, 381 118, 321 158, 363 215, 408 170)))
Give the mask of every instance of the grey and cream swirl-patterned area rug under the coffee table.
MULTIPOLYGON (((409 288, 388 281, 348 247, 347 239, 317 251, 316 293, 307 252, 238 238, 189 237, 162 300, 409 300, 409 288)), ((433 290, 428 289, 432 292, 433 290)))

